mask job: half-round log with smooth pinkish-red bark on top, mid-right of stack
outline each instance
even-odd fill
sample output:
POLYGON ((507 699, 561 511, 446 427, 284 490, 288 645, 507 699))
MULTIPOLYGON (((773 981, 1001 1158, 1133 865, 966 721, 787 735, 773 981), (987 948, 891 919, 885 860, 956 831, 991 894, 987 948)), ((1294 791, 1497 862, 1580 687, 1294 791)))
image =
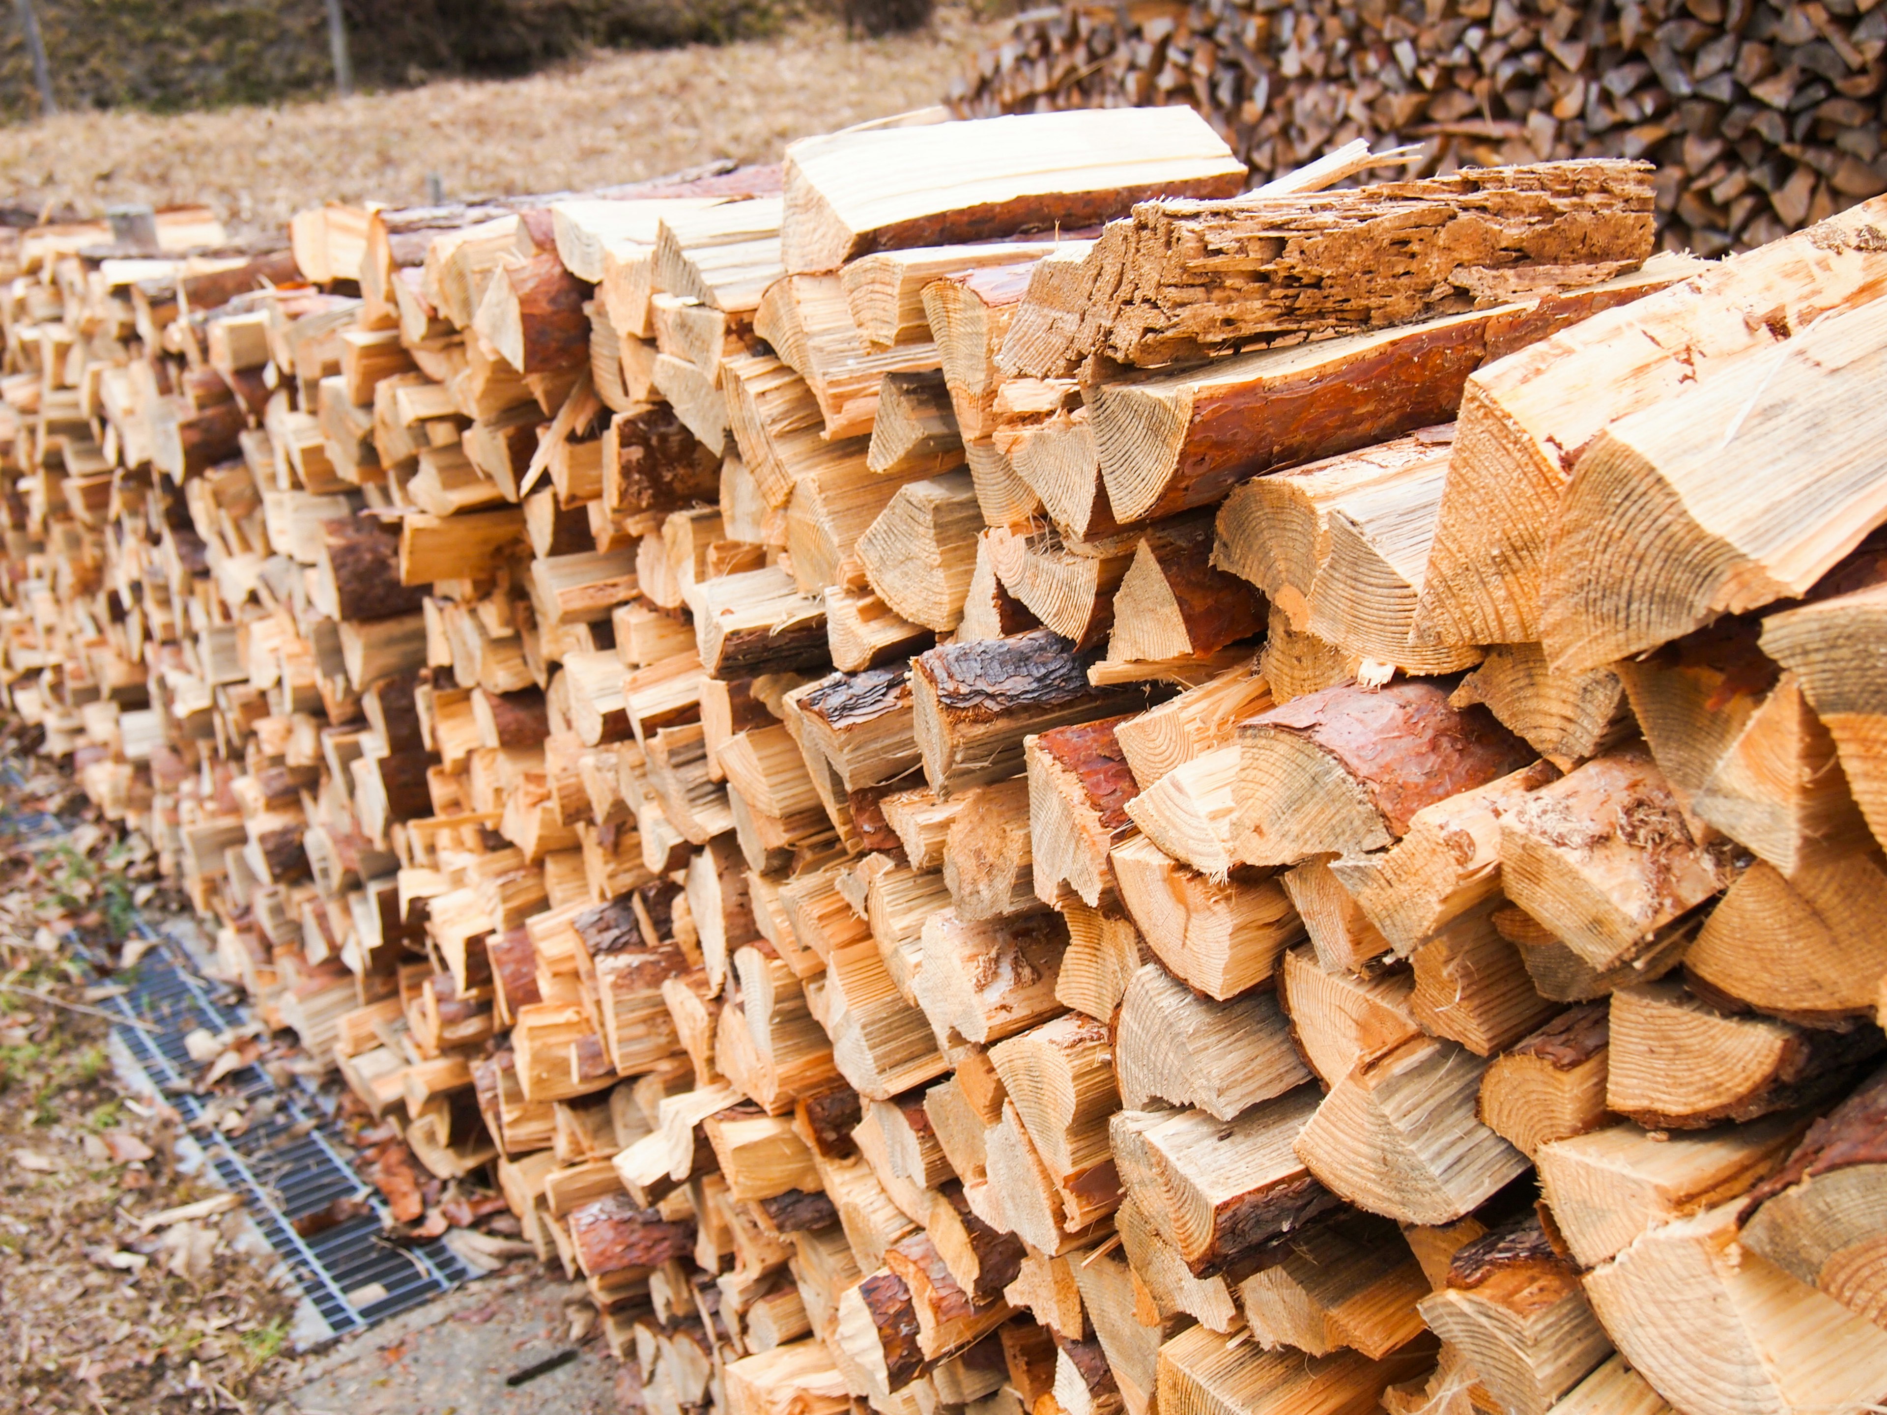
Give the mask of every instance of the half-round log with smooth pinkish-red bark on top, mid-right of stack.
POLYGON ((1240 724, 1238 738, 1238 851, 1247 864, 1381 849, 1408 834, 1421 807, 1530 757, 1493 715, 1451 708, 1432 683, 1325 689, 1240 724))

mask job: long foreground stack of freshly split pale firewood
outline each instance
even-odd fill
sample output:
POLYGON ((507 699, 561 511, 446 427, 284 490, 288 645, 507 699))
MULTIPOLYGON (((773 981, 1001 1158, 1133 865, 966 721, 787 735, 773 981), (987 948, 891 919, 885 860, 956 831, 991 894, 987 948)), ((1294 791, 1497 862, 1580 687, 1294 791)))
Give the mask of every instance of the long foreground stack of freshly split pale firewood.
POLYGON ((1878 1407, 1887 202, 934 119, 28 232, 13 709, 651 1413, 1878 1407))

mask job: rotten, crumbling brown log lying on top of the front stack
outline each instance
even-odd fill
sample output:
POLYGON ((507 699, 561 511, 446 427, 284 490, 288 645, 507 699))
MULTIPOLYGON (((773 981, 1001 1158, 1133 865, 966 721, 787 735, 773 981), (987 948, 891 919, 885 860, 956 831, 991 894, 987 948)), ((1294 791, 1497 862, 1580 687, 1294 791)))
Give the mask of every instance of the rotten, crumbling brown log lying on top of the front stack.
POLYGON ((1647 177, 1642 164, 1555 162, 1147 204, 1102 232, 1079 270, 1036 277, 1004 366, 1055 377, 1100 353, 1147 368, 1593 285, 1651 255, 1647 177), (1464 260, 1470 247, 1485 255, 1464 260))

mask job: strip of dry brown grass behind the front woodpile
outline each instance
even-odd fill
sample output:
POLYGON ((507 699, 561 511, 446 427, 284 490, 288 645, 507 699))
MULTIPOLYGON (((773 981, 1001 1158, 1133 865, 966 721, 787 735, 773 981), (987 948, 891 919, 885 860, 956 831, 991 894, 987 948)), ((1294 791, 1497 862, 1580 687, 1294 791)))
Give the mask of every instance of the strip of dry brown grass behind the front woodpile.
POLYGON ((217 113, 77 113, 0 130, 0 192, 94 215, 206 202, 232 230, 281 230, 321 200, 579 191, 938 102, 998 25, 940 8, 923 34, 847 40, 802 21, 774 40, 604 53, 526 79, 443 81, 217 113))

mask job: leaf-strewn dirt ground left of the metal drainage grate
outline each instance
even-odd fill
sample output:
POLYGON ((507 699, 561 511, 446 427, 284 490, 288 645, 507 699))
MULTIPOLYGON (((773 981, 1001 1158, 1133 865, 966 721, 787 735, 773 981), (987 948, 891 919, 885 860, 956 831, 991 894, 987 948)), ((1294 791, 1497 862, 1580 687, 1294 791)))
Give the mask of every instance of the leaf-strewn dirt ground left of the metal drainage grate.
POLYGON ((0 838, 0 1411, 240 1409, 292 1300, 185 1174, 181 1117, 121 1090, 96 1013, 132 902, 162 906, 155 858, 57 772, 0 807, 72 826, 51 849, 0 838))

